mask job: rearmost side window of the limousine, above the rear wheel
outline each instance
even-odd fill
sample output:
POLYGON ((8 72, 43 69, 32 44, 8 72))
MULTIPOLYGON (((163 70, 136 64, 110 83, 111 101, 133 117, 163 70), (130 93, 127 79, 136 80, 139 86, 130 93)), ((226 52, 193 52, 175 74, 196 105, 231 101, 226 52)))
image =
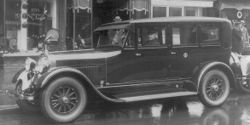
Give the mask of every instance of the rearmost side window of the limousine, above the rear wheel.
POLYGON ((218 44, 220 40, 219 26, 213 24, 202 24, 199 28, 199 40, 201 44, 218 44))

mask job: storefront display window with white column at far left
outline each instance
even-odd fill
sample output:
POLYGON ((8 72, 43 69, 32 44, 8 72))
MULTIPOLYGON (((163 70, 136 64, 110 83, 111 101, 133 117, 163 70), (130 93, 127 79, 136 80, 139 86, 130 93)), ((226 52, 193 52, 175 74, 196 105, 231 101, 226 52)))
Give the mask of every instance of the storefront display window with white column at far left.
MULTIPOLYGON (((63 27, 61 27, 63 20, 61 20, 62 14, 59 11, 59 6, 61 9, 63 8, 61 5, 63 5, 64 0, 5 1, 5 24, 1 24, 6 27, 4 48, 9 52, 39 51, 42 49, 47 31, 50 29, 56 29, 58 32, 63 31, 63 27)), ((55 42, 58 41, 59 37, 55 42)))

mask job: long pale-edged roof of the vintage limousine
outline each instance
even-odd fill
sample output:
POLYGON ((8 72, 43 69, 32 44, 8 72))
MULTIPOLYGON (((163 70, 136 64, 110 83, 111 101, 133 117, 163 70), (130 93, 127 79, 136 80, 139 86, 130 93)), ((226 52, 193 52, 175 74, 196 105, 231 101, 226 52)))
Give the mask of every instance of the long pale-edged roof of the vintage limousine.
MULTIPOLYGON (((112 22, 103 24, 95 31, 104 30, 109 28, 115 28, 117 26, 127 26, 129 24, 138 24, 138 23, 161 23, 161 22, 227 22, 231 23, 230 20, 225 18, 218 18, 218 17, 160 17, 160 18, 150 18, 150 19, 136 19, 136 20, 125 20, 119 22, 112 22)), ((111 29, 112 29, 111 28, 111 29)))

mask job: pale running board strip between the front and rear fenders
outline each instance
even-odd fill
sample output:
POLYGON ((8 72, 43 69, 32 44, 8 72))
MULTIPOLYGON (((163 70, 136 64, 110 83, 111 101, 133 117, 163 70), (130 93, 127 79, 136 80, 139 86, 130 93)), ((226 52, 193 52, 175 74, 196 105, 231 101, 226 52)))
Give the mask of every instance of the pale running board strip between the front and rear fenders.
POLYGON ((190 95, 197 95, 197 92, 160 93, 160 94, 153 94, 153 95, 122 97, 119 99, 125 102, 136 102, 136 101, 145 101, 145 100, 163 99, 163 98, 169 98, 169 97, 190 96, 190 95))

